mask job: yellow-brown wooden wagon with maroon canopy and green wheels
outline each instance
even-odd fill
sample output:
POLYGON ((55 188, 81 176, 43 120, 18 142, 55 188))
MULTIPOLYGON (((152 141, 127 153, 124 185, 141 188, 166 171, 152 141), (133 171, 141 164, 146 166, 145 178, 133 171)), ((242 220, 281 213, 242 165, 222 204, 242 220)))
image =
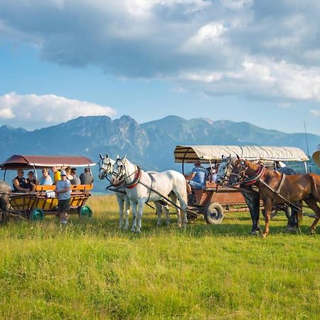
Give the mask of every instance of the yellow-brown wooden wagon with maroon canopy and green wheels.
MULTIPOLYGON (((84 167, 95 164, 85 156, 26 156, 14 155, 0 165, 4 170, 4 181, 7 170, 36 169, 57 167, 84 167)), ((10 181, 11 182, 11 181, 10 181)), ((10 183, 11 184, 11 183, 10 183)), ((72 185, 70 197, 70 213, 80 216, 91 216, 92 210, 85 203, 90 197, 93 185, 72 185)), ((10 213, 21 215, 31 220, 42 220, 45 215, 55 215, 58 210, 58 198, 55 197, 55 186, 36 185, 28 193, 12 191, 10 195, 10 213)))

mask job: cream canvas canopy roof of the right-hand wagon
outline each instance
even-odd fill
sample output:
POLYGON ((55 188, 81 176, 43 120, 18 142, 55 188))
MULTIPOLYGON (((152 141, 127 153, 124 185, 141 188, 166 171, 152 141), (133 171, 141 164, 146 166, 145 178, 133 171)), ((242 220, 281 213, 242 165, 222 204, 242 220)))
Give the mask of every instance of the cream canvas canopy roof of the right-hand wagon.
POLYGON ((193 163, 220 161, 222 156, 240 156, 247 160, 263 161, 307 161, 308 156, 302 149, 292 146, 176 146, 176 162, 193 163))

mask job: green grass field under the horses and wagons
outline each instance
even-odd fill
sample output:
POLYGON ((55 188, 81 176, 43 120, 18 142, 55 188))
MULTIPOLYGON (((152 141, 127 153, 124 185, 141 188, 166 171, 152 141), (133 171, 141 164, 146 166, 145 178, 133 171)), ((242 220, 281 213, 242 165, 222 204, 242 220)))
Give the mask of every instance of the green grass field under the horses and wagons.
POLYGON ((249 213, 183 231, 174 215, 157 228, 146 208, 136 235, 117 228, 114 196, 88 204, 94 216, 65 228, 55 217, 0 226, 1 319, 319 319, 311 218, 292 235, 280 215, 262 239, 248 235, 249 213))

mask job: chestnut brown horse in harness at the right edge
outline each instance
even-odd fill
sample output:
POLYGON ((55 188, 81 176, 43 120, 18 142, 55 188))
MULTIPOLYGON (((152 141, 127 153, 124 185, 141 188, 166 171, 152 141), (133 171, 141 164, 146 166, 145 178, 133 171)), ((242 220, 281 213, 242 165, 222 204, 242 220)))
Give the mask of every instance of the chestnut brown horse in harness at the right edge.
POLYGON ((316 233, 316 224, 320 219, 320 176, 317 174, 294 174, 284 176, 278 171, 265 169, 261 164, 255 164, 248 160, 235 161, 231 171, 229 184, 235 186, 238 183, 255 184, 258 187, 260 198, 265 207, 265 232, 269 233, 269 221, 274 204, 282 204, 290 201, 297 203, 304 201, 309 208, 314 210, 316 216, 311 225, 310 233, 316 233), (282 198, 283 197, 283 198, 282 198), (285 201, 284 198, 287 200, 285 201))

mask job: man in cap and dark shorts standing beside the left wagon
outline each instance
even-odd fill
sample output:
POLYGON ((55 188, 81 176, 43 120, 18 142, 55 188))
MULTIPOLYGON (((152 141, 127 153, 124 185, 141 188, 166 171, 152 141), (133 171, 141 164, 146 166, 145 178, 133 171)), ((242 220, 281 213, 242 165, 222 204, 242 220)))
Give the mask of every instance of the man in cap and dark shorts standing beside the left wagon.
POLYGON ((71 196, 71 183, 67 179, 67 174, 63 170, 60 173, 61 180, 57 181, 55 186, 55 193, 58 196, 58 213, 60 215, 60 223, 65 225, 68 220, 68 212, 70 206, 70 196, 71 196))

